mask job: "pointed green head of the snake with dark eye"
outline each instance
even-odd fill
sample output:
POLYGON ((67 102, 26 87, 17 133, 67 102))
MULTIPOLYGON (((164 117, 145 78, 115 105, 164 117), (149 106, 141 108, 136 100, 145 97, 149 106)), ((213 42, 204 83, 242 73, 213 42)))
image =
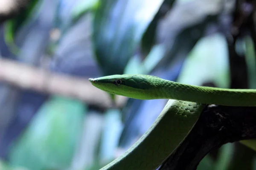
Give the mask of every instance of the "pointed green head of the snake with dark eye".
MULTIPOLYGON (((153 76, 152 76, 153 77, 153 76)), ((96 88, 111 94, 134 99, 152 99, 154 90, 148 82, 148 75, 123 74, 89 79, 96 88)))

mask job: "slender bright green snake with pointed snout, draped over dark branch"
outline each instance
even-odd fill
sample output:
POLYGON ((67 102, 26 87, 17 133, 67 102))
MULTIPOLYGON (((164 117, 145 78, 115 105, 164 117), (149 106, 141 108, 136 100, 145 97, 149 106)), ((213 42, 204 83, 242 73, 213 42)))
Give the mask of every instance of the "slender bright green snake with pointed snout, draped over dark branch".
POLYGON ((101 170, 155 170, 195 125, 204 107, 256 106, 256 90, 201 87, 142 74, 89 79, 95 87, 134 99, 170 99, 148 131, 101 170))

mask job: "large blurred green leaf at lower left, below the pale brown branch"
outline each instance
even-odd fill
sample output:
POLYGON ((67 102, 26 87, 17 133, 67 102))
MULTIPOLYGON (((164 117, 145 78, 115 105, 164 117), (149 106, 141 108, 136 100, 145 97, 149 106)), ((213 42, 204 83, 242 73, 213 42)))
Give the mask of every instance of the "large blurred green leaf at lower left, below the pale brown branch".
POLYGON ((31 170, 65 169, 81 134, 84 104, 53 97, 39 109, 10 152, 10 163, 31 170))

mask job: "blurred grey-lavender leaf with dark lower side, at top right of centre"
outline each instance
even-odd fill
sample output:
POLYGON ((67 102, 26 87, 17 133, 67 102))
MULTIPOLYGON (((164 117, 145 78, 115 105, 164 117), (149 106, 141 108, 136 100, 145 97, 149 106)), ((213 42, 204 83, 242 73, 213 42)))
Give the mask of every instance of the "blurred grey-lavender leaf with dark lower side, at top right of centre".
POLYGON ((215 0, 193 0, 173 6, 158 27, 158 41, 163 43, 166 52, 156 68, 163 68, 177 58, 185 58, 209 28, 214 28, 223 4, 215 0))

